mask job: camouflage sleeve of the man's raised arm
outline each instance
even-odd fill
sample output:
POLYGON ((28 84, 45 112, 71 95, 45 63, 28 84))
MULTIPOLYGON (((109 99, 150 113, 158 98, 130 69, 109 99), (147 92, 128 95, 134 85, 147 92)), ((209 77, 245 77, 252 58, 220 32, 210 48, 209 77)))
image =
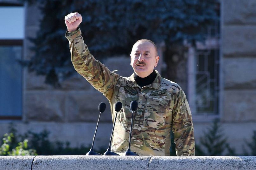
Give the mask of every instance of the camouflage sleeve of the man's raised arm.
POLYGON ((84 43, 80 28, 66 32, 71 52, 71 61, 75 70, 81 74, 95 89, 111 100, 118 74, 115 74, 96 60, 84 43))

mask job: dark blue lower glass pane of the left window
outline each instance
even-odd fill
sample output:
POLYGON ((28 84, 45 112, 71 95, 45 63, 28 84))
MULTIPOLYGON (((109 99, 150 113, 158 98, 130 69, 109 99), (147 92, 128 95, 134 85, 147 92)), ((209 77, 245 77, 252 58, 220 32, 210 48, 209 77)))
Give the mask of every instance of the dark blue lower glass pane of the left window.
POLYGON ((22 114, 22 46, 0 46, 0 116, 22 114))

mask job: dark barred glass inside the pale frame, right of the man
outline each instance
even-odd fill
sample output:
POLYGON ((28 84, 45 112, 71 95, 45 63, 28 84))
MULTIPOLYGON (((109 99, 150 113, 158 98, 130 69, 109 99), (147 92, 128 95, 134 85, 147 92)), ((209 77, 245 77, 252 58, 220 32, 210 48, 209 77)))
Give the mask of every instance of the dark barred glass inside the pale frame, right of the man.
POLYGON ((219 94, 219 50, 196 51, 196 113, 218 114, 219 94))

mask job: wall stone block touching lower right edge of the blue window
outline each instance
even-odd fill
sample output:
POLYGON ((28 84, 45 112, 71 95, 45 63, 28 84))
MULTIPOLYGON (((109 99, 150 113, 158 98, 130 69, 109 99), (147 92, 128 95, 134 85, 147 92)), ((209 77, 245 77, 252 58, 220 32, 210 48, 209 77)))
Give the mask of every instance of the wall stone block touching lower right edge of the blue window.
POLYGON ((61 122, 65 119, 63 92, 27 91, 24 94, 24 120, 61 122))

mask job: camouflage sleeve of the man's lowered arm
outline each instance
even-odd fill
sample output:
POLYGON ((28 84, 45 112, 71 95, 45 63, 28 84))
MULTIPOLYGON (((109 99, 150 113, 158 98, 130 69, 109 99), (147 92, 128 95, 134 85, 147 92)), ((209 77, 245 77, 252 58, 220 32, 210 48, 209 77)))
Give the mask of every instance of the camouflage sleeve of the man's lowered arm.
POLYGON ((173 108, 172 131, 177 156, 195 156, 195 139, 192 115, 185 93, 180 90, 173 108))

